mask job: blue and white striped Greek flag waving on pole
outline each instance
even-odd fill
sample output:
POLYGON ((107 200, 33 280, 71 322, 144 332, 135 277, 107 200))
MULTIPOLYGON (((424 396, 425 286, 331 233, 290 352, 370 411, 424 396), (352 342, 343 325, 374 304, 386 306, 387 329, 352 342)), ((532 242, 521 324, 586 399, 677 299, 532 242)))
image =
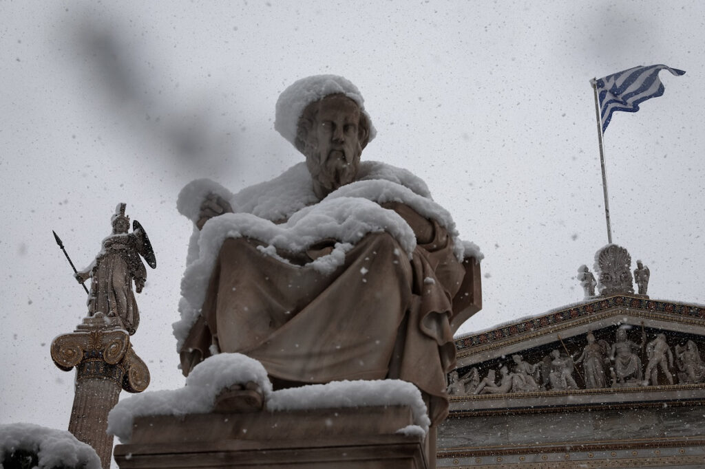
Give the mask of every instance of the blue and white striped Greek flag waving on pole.
POLYGON ((630 68, 597 80, 602 132, 607 129, 614 111, 635 113, 639 111, 642 101, 663 94, 663 84, 658 79, 658 72, 664 69, 677 76, 685 73, 666 65, 649 65, 630 68))

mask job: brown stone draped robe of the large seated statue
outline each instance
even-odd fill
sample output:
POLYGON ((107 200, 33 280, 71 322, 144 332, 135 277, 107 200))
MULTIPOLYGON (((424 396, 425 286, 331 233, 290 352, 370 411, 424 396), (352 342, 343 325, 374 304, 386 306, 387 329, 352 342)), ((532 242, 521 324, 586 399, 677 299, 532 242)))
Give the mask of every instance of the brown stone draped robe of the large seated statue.
POLYGON ((286 263, 253 239, 226 239, 181 348, 183 373, 215 344, 255 358, 283 382, 396 378, 424 392, 431 421, 439 423, 448 412, 453 332, 479 309, 472 308, 480 301, 473 296, 479 265, 458 261, 439 223, 402 207, 398 213, 417 234, 411 258, 393 236, 372 232, 329 274, 307 261, 328 254, 334 240, 305 254, 278 251, 286 263))

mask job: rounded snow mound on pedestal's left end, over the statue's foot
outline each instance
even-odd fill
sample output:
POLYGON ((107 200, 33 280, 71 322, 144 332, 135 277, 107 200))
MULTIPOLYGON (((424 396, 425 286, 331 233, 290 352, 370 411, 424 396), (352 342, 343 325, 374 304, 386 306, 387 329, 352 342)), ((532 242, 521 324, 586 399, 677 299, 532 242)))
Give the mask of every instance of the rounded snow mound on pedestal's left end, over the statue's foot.
POLYGON ((265 399, 271 395, 271 382, 259 361, 243 354, 211 356, 193 368, 185 387, 143 392, 118 402, 108 415, 107 431, 129 442, 135 417, 208 413, 224 388, 250 381, 259 384, 265 399))

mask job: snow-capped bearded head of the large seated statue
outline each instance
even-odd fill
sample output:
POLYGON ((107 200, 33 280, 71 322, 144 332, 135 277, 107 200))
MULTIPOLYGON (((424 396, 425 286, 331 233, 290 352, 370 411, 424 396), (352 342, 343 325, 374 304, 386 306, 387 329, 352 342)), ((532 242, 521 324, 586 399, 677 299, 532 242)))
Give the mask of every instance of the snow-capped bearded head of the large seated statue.
POLYGON ((319 196, 355 180, 362 149, 376 133, 360 91, 336 75, 288 87, 276 103, 274 128, 306 156, 319 196))

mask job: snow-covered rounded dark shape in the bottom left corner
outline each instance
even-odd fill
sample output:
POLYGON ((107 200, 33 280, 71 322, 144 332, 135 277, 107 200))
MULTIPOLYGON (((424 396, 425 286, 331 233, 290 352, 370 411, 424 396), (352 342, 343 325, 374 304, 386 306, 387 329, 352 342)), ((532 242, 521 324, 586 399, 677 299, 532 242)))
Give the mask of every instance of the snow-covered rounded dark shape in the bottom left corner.
POLYGON ((91 446, 65 430, 32 423, 0 425, 0 467, 16 451, 37 456, 39 469, 66 467, 100 469, 100 458, 91 446))

